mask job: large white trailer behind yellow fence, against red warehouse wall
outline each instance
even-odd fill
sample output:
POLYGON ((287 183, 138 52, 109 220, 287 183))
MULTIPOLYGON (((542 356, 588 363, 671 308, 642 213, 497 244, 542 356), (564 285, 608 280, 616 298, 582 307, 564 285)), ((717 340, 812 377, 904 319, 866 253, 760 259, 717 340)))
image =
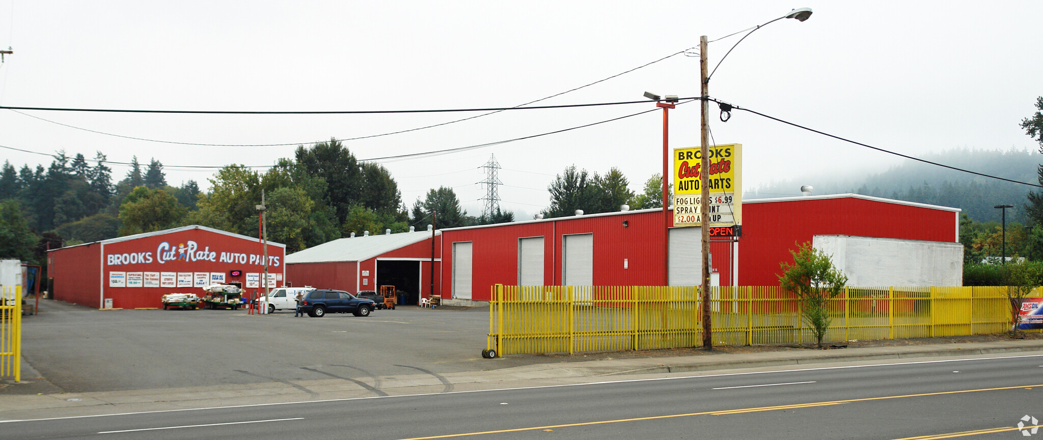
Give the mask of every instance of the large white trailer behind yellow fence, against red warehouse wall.
POLYGON ((832 256, 851 287, 964 285, 960 243, 814 236, 811 246, 832 256))

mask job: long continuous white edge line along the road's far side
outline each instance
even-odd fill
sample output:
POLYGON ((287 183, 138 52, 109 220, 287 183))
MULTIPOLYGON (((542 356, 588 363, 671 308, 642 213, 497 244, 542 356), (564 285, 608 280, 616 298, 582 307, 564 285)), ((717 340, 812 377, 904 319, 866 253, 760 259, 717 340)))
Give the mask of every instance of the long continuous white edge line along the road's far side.
MULTIPOLYGON (((346 321, 344 321, 346 322, 346 321)), ((359 321, 362 322, 362 321, 359 321)), ((300 405, 300 404, 324 404, 330 401, 350 401, 350 400, 368 400, 374 398, 394 398, 394 397, 422 397, 422 396, 436 396, 436 395, 446 395, 446 394, 470 394, 470 393, 487 393, 490 391, 515 391, 515 390, 538 390, 543 388, 561 388, 561 387, 580 387, 586 385, 610 385, 610 384, 628 384, 637 382, 655 382, 655 381, 675 381, 680 378, 701 378, 701 377, 723 377, 729 375, 752 375, 752 374, 769 374, 769 373, 790 373, 799 371, 820 371, 820 370, 838 370, 838 369, 848 369, 848 368, 866 368, 866 367, 890 367, 894 365, 914 365, 914 364, 938 364, 944 362, 964 362, 964 361, 995 361, 1001 359, 1018 359, 1018 358, 1040 358, 1043 355, 1022 355, 1022 356, 1001 356, 995 358, 966 358, 966 359, 943 359, 938 361, 916 361, 916 362, 896 362, 893 364, 866 364, 866 365, 844 365, 838 367, 818 367, 818 368, 796 368, 792 370, 770 370, 770 371, 750 371, 743 373, 721 373, 721 374, 705 374, 705 375, 684 375, 676 377, 652 377, 652 378, 629 378, 623 381, 600 381, 600 382, 585 382, 580 384, 561 384, 561 385, 541 385, 535 387, 514 387, 514 388, 496 388, 491 390, 468 390, 468 391, 451 391, 447 393, 420 393, 420 394, 399 394, 399 395, 389 395, 389 396, 369 396, 369 397, 345 397, 345 398, 328 398, 328 399, 317 399, 317 400, 304 400, 304 401, 278 401, 274 404, 248 404, 248 405, 231 405, 226 407, 201 407, 201 408, 183 408, 177 410, 157 410, 157 411, 136 411, 127 413, 114 413, 114 414, 92 414, 88 416, 67 416, 67 417, 47 417, 47 418, 32 418, 32 419, 20 419, 20 420, 0 420, 0 423, 11 423, 21 421, 44 421, 44 420, 66 420, 74 418, 93 418, 93 417, 112 417, 112 416, 131 416, 138 414, 160 414, 160 413, 174 413, 183 411, 204 411, 204 410, 227 410, 233 408, 259 408, 259 407, 276 407, 286 405, 300 405)), ((1040 365, 1043 367, 1043 365, 1040 365)))

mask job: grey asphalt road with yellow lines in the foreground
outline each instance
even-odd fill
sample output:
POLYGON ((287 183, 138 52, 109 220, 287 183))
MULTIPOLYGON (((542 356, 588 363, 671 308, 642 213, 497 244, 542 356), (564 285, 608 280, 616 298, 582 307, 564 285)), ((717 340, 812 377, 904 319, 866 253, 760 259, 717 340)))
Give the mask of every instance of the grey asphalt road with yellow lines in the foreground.
POLYGON ((0 440, 1024 438, 1020 419, 1043 418, 1041 371, 1043 355, 902 361, 22 420, 0 440))

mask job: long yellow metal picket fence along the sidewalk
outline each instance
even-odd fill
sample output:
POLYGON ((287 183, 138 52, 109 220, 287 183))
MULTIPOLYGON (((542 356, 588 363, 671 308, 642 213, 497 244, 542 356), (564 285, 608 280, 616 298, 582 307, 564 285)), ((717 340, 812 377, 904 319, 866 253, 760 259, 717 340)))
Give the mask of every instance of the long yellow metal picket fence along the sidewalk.
MULTIPOLYGON (((1004 332, 1005 289, 847 288, 829 300, 823 341, 1004 332)), ((779 287, 712 287, 710 298, 715 345, 815 342, 799 301, 779 287)), ((496 285, 487 348, 504 356, 695 347, 701 319, 698 287, 496 285)))

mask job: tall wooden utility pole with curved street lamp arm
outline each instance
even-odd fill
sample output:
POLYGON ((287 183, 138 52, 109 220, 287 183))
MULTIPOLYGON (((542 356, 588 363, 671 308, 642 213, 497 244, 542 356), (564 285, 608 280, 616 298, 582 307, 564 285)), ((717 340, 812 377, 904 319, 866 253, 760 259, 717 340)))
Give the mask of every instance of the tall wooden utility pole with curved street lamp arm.
POLYGON ((757 27, 753 28, 753 30, 749 31, 746 35, 743 35, 743 38, 739 39, 738 42, 736 42, 731 47, 731 49, 728 49, 728 52, 726 52, 724 54, 724 56, 721 57, 721 60, 718 62, 718 65, 713 68, 713 71, 711 71, 709 74, 706 73, 707 70, 708 70, 708 64, 707 64, 707 58, 706 58, 706 45, 708 44, 707 38, 706 38, 706 35, 702 35, 702 36, 699 38, 699 84, 700 84, 700 92, 701 92, 700 99, 703 101, 702 105, 701 105, 702 112, 701 112, 700 124, 699 124, 700 125, 699 137, 700 137, 700 141, 701 141, 700 142, 700 144, 701 144, 700 154, 702 155, 702 157, 700 157, 700 165, 699 165, 699 167, 700 167, 699 168, 699 187, 700 187, 700 198, 701 198, 700 204, 699 204, 699 210, 701 211, 700 212, 700 216, 699 216, 700 217, 700 219, 699 219, 699 228, 701 229, 700 233, 702 233, 702 254, 703 254, 702 255, 702 258, 703 258, 702 259, 703 260, 702 261, 703 273, 702 273, 702 282, 701 282, 702 285, 700 286, 700 291, 702 293, 702 295, 701 295, 702 299, 700 300, 700 302, 701 302, 702 312, 703 312, 702 313, 702 315, 703 315, 702 316, 702 321, 703 321, 703 348, 707 349, 707 350, 713 349, 713 324, 712 324, 712 321, 711 321, 711 318, 710 318, 710 308, 709 308, 709 303, 710 303, 710 286, 709 286, 710 285, 710 234, 709 234, 709 211, 710 211, 710 200, 709 200, 709 198, 710 198, 710 189, 709 189, 709 173, 707 172, 707 170, 709 170, 709 119, 708 119, 708 115, 709 115, 709 102, 710 102, 709 101, 709 97, 710 97, 710 93, 709 93, 710 77, 712 77, 713 76, 713 72, 717 72, 717 69, 719 67, 721 67, 721 63, 724 63, 724 58, 728 57, 728 54, 731 53, 731 51, 735 49, 735 46, 738 46, 738 44, 742 43, 743 40, 746 40, 747 36, 750 36, 750 33, 753 33, 757 29, 759 29, 761 27, 765 27, 768 24, 771 24, 773 22, 782 20, 782 19, 797 19, 797 21, 801 21, 802 22, 804 20, 807 20, 808 17, 811 17, 811 8, 809 8, 809 7, 801 7, 799 9, 793 9, 793 10, 790 11, 790 14, 787 14, 785 16, 779 17, 779 18, 777 18, 775 20, 772 20, 772 21, 770 21, 768 23, 765 23, 765 24, 762 24, 760 26, 757 26, 757 27))

